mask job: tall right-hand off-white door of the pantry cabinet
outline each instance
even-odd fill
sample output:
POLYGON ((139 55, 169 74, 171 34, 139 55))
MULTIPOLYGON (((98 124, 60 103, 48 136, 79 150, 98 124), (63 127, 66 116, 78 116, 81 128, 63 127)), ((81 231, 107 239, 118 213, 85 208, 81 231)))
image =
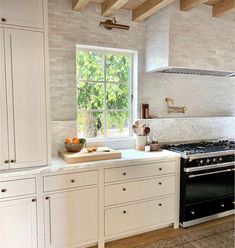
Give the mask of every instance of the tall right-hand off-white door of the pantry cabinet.
MULTIPOLYGON (((1 160, 10 168, 47 164, 46 89, 44 35, 40 32, 4 28, 5 77, 1 76, 1 102, 7 99, 7 114, 1 111, 4 142, 1 160), (5 86, 4 86, 5 85, 5 86), (4 94, 5 92, 5 94, 4 94), (7 134, 6 134, 7 133, 7 134), (9 146, 7 157, 6 135, 9 146), (5 150, 4 150, 5 149, 5 150)), ((3 42, 1 42, 3 43, 3 42)), ((1 56, 2 58, 2 56, 1 56)), ((2 63, 1 63, 2 66, 2 63)))

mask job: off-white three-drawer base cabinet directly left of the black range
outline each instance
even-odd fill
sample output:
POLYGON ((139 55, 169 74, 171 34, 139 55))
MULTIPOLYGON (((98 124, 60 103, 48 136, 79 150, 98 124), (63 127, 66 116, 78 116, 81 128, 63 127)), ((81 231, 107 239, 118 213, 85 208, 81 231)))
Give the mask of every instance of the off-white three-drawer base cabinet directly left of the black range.
POLYGON ((104 169, 105 241, 179 225, 179 163, 104 169))

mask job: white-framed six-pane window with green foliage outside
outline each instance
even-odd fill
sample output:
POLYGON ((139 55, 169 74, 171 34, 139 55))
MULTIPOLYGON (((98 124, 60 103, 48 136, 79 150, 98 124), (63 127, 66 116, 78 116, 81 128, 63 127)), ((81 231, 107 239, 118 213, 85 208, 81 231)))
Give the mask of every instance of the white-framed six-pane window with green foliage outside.
POLYGON ((78 46, 76 71, 78 136, 131 136, 133 53, 78 46))

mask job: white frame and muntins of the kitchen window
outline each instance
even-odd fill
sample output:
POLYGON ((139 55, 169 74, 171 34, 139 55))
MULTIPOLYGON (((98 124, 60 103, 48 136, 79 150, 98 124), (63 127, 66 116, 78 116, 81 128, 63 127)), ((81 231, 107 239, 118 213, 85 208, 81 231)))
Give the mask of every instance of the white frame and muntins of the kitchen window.
MULTIPOLYGON (((138 52, 136 50, 129 50, 129 49, 118 49, 118 48, 108 48, 108 47, 99 47, 99 46, 89 46, 89 45, 76 45, 76 52, 77 50, 80 51, 85 51, 85 52, 97 52, 97 53, 102 53, 102 54, 123 54, 123 55, 128 55, 131 59, 131 65, 130 65, 130 79, 128 82, 128 87, 129 87, 129 107, 126 110, 129 114, 129 132, 128 135, 126 136, 116 136, 116 137, 108 137, 107 136, 107 126, 106 126, 106 118, 107 118, 107 113, 109 111, 125 111, 124 109, 107 109, 107 101, 106 101, 106 86, 107 83, 117 83, 117 84, 124 84, 124 82, 112 82, 112 81, 107 81, 106 80, 106 64, 105 64, 105 59, 104 59, 104 79, 101 81, 92 81, 92 80, 79 80, 80 82, 93 82, 93 83, 102 83, 104 84, 104 108, 103 109, 97 109, 97 110, 88 110, 86 112, 101 112, 104 114, 104 136, 103 137, 92 137, 92 138, 86 138, 88 141, 100 141, 100 140, 126 140, 133 138, 133 130, 132 130, 132 123, 134 118, 137 117, 137 106, 134 106, 134 104, 137 105, 137 73, 138 73, 138 52)), ((105 57, 104 57, 105 58, 105 57)), ((76 71, 77 73, 77 71, 76 71)), ((78 84, 77 77, 76 77, 76 85, 78 84)), ((82 112, 82 111, 81 111, 82 112)), ((84 111, 85 112, 85 111, 84 111)), ((78 110, 77 110, 78 113, 78 110)), ((78 130, 77 130, 78 131, 78 130)))

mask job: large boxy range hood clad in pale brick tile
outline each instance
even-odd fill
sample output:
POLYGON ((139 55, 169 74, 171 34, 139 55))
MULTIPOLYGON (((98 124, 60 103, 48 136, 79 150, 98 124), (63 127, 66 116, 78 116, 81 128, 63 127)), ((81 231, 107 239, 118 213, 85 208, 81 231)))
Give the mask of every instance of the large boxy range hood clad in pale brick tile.
POLYGON ((146 71, 235 77, 235 22, 211 16, 211 6, 183 12, 175 1, 149 18, 146 71))

